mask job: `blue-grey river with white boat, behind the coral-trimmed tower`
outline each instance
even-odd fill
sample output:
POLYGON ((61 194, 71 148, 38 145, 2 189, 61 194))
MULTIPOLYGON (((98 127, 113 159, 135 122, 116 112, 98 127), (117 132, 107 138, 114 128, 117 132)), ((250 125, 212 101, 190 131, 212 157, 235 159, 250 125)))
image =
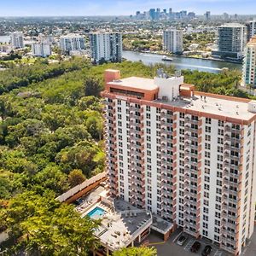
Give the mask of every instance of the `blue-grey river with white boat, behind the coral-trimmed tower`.
POLYGON ((148 53, 139 53, 129 50, 123 51, 123 57, 128 61, 143 61, 144 64, 150 65, 154 63, 165 63, 173 65, 176 69, 191 69, 210 73, 219 73, 222 68, 241 70, 241 64, 230 63, 225 61, 212 61, 186 58, 183 56, 172 56, 172 61, 162 61, 163 55, 155 55, 148 53))

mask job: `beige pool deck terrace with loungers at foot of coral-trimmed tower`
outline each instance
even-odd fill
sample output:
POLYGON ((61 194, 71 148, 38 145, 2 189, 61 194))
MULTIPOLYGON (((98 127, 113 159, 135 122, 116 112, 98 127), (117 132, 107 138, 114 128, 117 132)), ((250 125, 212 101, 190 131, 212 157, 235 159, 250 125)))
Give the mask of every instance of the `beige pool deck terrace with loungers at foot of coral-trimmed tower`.
MULTIPOLYGON (((79 206, 76 209, 82 218, 101 208, 102 215, 96 213, 90 218, 101 219, 101 224, 94 232, 95 236, 112 251, 127 247, 153 223, 151 212, 137 209, 123 200, 108 198, 108 192, 102 185, 81 197, 77 203, 79 206)), ((170 225, 172 228, 172 224, 160 219, 155 221, 155 225, 162 232, 169 230, 170 225)))

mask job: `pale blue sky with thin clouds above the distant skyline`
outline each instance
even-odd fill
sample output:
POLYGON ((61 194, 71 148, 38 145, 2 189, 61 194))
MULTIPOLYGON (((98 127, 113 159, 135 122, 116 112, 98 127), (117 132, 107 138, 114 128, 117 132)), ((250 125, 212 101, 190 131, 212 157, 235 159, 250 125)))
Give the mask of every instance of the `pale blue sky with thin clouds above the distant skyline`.
POLYGON ((256 0, 0 0, 0 16, 134 15, 151 8, 256 14, 256 0))

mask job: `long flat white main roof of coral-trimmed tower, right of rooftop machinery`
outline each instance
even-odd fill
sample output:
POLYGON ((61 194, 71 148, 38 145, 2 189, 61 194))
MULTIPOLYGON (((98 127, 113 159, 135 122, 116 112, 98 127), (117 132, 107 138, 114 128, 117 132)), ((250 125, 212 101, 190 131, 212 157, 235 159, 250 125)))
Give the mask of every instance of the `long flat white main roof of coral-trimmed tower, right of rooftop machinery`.
MULTIPOLYGON (((190 109, 199 111, 202 113, 211 113, 233 119, 249 120, 255 116, 255 113, 248 111, 247 102, 238 102, 235 100, 224 99, 221 96, 207 95, 201 97, 201 93, 195 92, 195 96, 192 98, 177 98, 172 102, 165 102, 162 100, 156 100, 155 102, 161 102, 167 105, 171 105, 177 108, 190 109)), ((249 102, 249 101, 248 101, 249 102)))

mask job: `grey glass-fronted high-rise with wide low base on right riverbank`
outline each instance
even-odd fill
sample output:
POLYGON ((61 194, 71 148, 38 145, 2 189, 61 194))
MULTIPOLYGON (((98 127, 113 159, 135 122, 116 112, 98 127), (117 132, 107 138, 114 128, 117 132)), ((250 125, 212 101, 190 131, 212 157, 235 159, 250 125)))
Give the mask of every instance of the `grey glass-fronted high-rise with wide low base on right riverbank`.
POLYGON ((241 59, 246 45, 246 27, 238 23, 228 23, 218 27, 218 50, 212 55, 222 58, 241 59))

